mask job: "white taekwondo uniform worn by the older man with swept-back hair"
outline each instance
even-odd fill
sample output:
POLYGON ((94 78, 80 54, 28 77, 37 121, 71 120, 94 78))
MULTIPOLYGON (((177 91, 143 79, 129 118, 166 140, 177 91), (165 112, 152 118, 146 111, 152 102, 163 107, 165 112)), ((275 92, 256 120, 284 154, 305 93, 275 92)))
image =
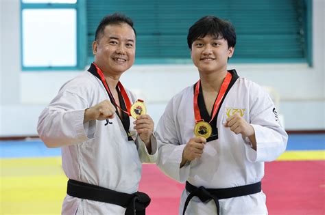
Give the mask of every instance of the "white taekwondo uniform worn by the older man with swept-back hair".
MULTIPOLYGON (((95 70, 91 66, 89 70, 95 70)), ((135 96, 128 90, 130 102, 135 96)), ((45 143, 63 143, 62 167, 71 180, 94 184, 118 192, 138 191, 141 162, 155 162, 156 141, 152 138, 152 154, 133 129, 135 141, 128 141, 117 113, 112 124, 89 121, 84 124, 84 110, 103 100, 110 100, 104 85, 91 72, 82 72, 65 83, 58 96, 40 114, 38 134, 45 143)), ((99 201, 79 199, 67 195, 62 214, 124 214, 125 208, 99 201)))

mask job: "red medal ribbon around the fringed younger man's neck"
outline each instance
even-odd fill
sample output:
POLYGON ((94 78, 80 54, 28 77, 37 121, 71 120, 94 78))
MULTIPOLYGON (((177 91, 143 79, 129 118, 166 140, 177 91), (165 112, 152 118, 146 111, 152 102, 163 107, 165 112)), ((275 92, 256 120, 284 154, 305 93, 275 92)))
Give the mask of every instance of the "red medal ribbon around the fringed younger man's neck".
MULTIPOLYGON (((221 100, 222 100, 222 98, 224 98, 224 95, 226 94, 226 90, 227 90, 227 88, 228 88, 228 86, 230 84, 231 78, 232 78, 232 74, 230 74, 230 72, 227 72, 227 75, 226 75, 226 77, 224 78, 224 81, 221 84, 219 94, 217 96, 217 99, 215 100, 215 104, 213 105, 213 115, 212 115, 210 121, 208 122, 209 124, 213 120, 215 115, 217 114, 217 111, 219 109, 221 100)), ((199 121, 202 121, 199 106, 197 104, 197 98, 198 98, 199 93, 200 93, 200 83, 201 83, 200 80, 197 81, 196 86, 195 86, 195 91, 194 91, 194 102, 193 103, 194 103, 194 116, 195 116, 195 122, 196 123, 199 122, 199 121)))

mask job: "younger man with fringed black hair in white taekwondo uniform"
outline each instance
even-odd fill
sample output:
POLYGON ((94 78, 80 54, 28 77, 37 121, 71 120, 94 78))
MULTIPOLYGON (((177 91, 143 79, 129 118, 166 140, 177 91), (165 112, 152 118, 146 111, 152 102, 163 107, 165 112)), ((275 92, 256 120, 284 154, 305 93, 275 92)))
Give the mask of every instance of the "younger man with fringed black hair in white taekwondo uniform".
POLYGON ((236 44, 231 23, 205 16, 187 42, 200 80, 171 99, 156 130, 158 167, 186 182, 179 214, 267 214, 264 162, 287 145, 274 103, 227 71, 236 44))

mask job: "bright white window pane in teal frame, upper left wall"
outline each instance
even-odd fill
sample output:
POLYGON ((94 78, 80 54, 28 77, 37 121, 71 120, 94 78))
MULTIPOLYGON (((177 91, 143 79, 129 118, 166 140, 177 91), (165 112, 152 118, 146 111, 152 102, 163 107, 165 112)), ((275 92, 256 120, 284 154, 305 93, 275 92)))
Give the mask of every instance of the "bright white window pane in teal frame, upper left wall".
POLYGON ((86 48, 82 52, 85 34, 79 35, 80 4, 77 0, 21 1, 23 70, 83 68, 86 62, 81 59, 82 53, 86 56, 86 48))

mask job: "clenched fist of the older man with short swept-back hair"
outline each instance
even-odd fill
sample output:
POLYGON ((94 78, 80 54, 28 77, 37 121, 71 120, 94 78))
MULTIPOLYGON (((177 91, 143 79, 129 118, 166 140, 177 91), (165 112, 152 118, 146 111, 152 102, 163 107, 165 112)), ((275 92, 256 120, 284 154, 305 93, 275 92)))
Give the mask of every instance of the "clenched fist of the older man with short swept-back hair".
POLYGON ((96 119, 112 119, 114 118, 115 111, 115 106, 109 100, 104 100, 84 111, 84 123, 96 119))

